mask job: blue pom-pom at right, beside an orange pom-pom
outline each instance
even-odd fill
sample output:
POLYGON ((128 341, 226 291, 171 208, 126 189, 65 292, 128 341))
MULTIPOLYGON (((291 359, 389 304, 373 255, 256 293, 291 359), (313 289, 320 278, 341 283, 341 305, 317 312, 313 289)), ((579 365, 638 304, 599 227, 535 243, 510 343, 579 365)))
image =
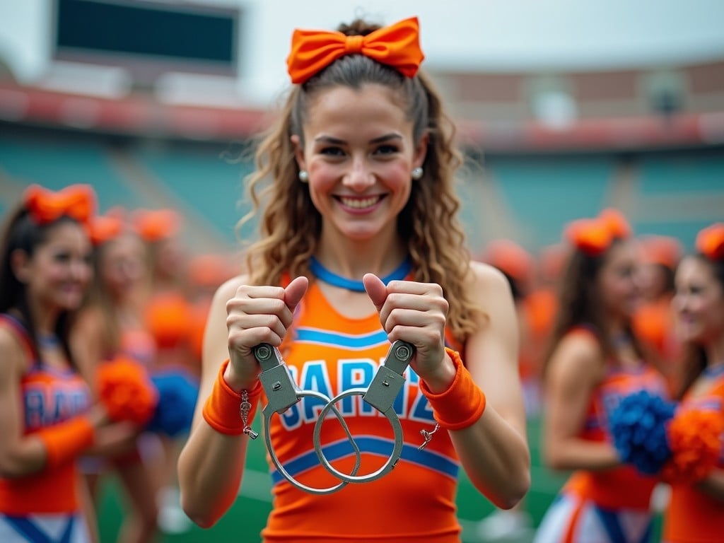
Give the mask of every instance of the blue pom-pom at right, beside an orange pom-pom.
POLYGON ((665 423, 674 410, 674 403, 647 390, 623 397, 609 415, 613 444, 621 460, 645 475, 658 473, 671 456, 665 423))

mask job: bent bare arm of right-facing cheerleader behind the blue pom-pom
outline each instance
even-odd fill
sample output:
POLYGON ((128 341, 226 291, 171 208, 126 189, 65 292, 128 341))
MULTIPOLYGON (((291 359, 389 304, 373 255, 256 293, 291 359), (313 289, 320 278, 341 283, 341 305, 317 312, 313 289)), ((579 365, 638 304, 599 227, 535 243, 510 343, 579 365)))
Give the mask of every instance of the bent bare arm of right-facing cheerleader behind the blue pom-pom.
POLYGON ((578 437, 603 371, 599 346, 587 335, 564 337, 553 353, 544 415, 544 456, 551 468, 602 470, 621 465, 613 445, 578 437))

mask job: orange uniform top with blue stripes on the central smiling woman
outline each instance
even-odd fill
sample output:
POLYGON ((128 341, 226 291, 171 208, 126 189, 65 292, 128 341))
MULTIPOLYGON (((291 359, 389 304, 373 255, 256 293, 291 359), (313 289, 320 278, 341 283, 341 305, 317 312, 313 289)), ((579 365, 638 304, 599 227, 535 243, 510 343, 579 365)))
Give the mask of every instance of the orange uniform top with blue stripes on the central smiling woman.
MULTIPOLYGON (((332 308, 318 285, 309 287, 282 346, 290 374, 303 390, 328 397, 369 386, 390 348, 387 334, 373 313, 350 319, 332 308)), ((452 348, 459 348, 451 342, 452 348)), ((393 408, 403 427, 404 445, 395 468, 376 481, 350 483, 333 494, 297 489, 271 466, 274 507, 264 542, 354 541, 385 543, 453 543, 460 541, 455 506, 457 455, 447 432, 439 430, 424 450, 421 430, 435 426, 432 408, 408 368, 393 408)), ((262 405, 266 400, 262 398, 262 405)), ((390 421, 361 396, 337 404, 362 452, 357 476, 372 473, 387 461, 395 441, 390 421)), ((321 400, 303 397, 282 415, 271 418, 270 437, 285 470, 301 484, 334 487, 340 480, 321 466, 312 432, 321 400)), ((355 455, 339 421, 329 415, 321 429, 324 455, 332 466, 352 473, 355 455)))

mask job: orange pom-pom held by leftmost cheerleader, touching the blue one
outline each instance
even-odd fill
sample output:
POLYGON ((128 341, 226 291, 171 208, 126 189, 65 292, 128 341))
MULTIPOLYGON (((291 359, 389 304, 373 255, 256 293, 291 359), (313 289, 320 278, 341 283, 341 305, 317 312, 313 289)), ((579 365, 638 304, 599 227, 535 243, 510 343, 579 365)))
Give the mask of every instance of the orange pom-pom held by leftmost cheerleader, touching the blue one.
POLYGON ((119 355, 101 364, 96 372, 98 396, 113 421, 145 425, 159 401, 146 367, 119 355))

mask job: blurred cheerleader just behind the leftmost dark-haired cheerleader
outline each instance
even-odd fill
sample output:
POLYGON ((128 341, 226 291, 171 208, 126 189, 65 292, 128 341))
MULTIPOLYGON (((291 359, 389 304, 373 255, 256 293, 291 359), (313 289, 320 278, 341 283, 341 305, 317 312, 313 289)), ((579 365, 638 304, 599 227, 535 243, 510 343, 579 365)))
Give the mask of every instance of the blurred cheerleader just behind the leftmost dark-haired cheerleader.
MULTIPOLYGON (((145 373, 156 357, 156 343, 143 318, 143 288, 148 269, 140 237, 127 227, 125 211, 113 209, 96 217, 90 227, 95 280, 80 313, 74 345, 82 353, 78 363, 88 382, 96 384, 98 371, 118 361, 129 371, 145 373), (140 368, 137 368, 140 366, 140 368)), ((101 397, 103 392, 94 390, 101 397)), ((146 420, 138 419, 135 439, 125 450, 106 451, 127 494, 119 542, 149 542, 156 536, 156 480, 162 469, 161 449, 151 434, 142 434, 146 420), (143 439, 141 439, 143 435, 143 439)), ((85 460, 91 492, 98 492, 98 476, 108 466, 85 460)), ((97 496, 96 496, 97 500, 97 496)))

